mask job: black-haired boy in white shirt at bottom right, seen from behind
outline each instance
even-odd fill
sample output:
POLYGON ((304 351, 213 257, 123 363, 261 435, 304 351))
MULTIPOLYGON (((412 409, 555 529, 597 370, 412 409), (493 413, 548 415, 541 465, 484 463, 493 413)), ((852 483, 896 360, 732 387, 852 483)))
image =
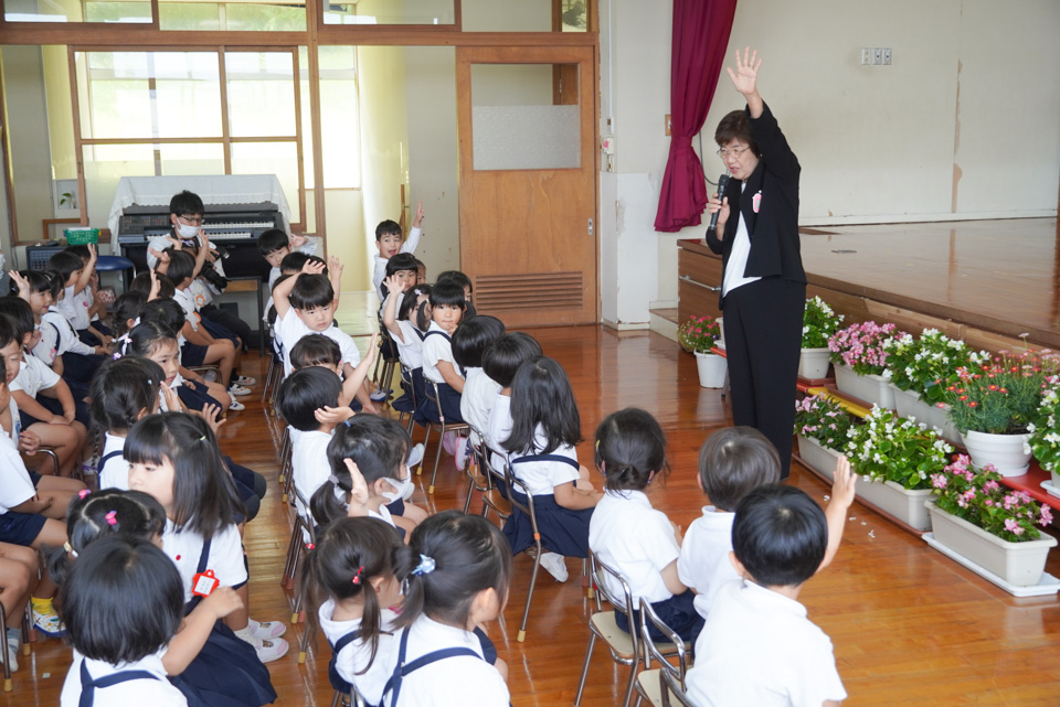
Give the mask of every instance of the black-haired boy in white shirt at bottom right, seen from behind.
POLYGON ((828 522, 805 491, 767 484, 735 507, 732 565, 688 671, 696 705, 836 707, 846 699, 831 641, 806 618, 803 583, 825 560, 828 522))

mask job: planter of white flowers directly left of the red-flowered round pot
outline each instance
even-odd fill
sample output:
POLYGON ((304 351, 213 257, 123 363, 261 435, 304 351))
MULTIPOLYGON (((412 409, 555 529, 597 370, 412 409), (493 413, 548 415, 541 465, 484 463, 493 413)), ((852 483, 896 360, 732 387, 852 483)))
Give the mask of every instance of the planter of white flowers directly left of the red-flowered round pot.
POLYGON ((883 377, 894 388, 898 414, 928 422, 942 430, 950 441, 960 442, 961 436, 947 416, 946 388, 957 382, 957 368, 981 365, 989 360, 989 354, 972 351, 960 339, 950 339, 937 329, 925 329, 916 339, 912 334, 888 339, 883 349, 883 377))

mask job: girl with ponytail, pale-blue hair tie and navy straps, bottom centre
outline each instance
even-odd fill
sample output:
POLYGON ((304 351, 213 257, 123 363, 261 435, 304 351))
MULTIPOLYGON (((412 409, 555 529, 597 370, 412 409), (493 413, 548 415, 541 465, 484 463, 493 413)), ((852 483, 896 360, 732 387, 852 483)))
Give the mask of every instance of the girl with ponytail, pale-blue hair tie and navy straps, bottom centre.
POLYGON ((504 535, 481 516, 444 511, 413 531, 409 549, 416 559, 383 704, 506 707, 507 666, 492 664, 496 651, 481 632, 508 601, 511 551, 504 535))

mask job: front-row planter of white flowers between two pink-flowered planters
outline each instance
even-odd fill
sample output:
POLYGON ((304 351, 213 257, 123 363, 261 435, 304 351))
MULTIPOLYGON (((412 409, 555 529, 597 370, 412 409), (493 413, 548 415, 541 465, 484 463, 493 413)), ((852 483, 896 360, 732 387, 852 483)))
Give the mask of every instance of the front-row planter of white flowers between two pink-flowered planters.
POLYGON ((931 474, 945 468, 953 447, 926 424, 879 407, 847 437, 844 451, 850 465, 872 482, 859 484, 858 495, 918 531, 929 529, 924 501, 931 495, 931 474))

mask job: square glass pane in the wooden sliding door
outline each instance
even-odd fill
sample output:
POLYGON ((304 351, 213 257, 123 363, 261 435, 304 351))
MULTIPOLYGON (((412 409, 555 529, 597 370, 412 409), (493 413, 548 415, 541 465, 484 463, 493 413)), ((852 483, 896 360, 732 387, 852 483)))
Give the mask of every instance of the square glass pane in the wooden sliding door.
POLYGON ((475 169, 580 167, 577 96, 575 64, 474 64, 475 169))

